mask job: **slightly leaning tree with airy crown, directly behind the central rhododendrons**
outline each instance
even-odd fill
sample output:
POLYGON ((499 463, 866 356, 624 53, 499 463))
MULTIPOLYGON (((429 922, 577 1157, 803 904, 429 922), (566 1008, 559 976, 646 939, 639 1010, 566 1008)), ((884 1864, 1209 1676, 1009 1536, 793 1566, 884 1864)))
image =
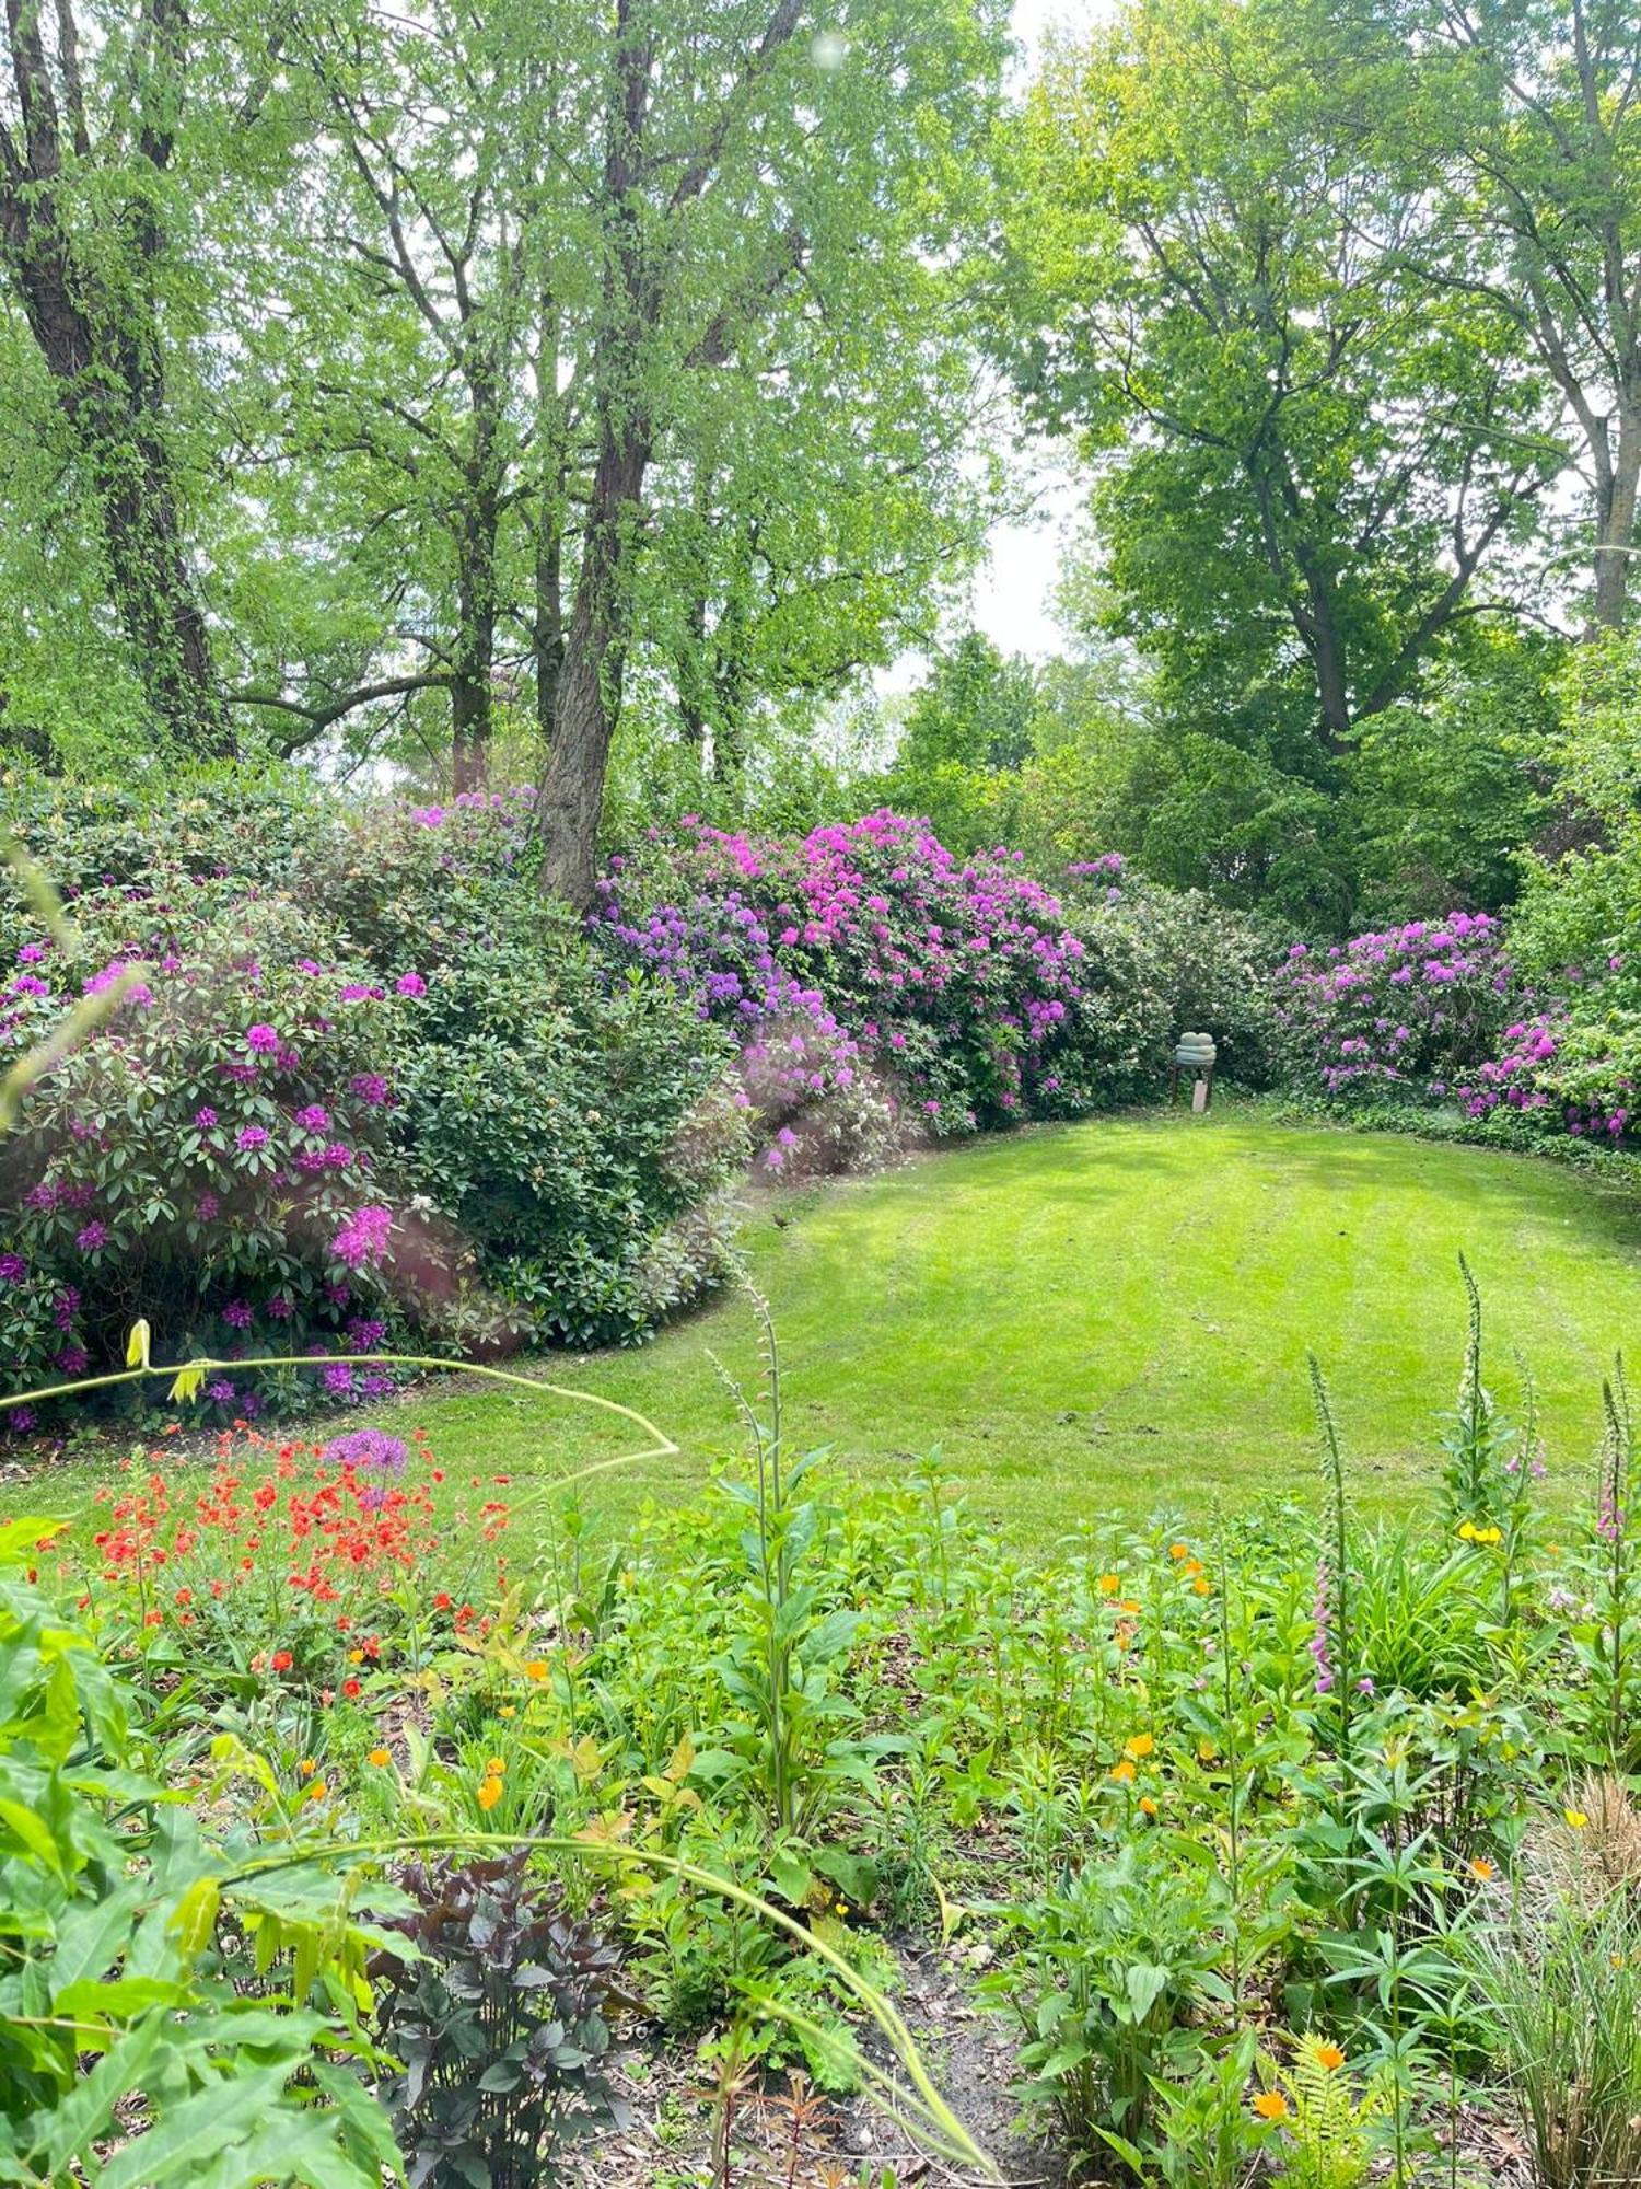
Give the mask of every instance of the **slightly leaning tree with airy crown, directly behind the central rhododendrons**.
MULTIPOLYGON (((1002 59, 974 0, 615 0, 586 177, 591 479, 547 766, 545 887, 593 891, 654 482, 702 387, 779 390, 794 346, 961 337, 961 256, 1002 59), (967 190, 965 190, 967 186, 967 190), (967 201, 965 201, 967 199, 967 201)), ((700 473, 696 473, 696 479, 700 473)))

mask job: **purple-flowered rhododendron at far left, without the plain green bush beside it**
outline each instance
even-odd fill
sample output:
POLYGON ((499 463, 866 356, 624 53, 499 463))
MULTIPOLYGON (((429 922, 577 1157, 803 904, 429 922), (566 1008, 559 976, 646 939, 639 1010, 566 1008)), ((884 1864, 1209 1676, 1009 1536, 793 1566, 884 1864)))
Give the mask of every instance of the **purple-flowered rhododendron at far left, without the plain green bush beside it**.
MULTIPOLYGON (((127 985, 0 1151, 15 1381, 120 1359, 136 1316, 177 1355, 372 1351, 405 1318, 438 1327, 459 1252, 407 1211, 389 1156, 383 1064, 409 998, 298 904, 228 882, 88 895, 68 948, 20 933, 0 1055, 127 985)), ((330 1381, 333 1399, 392 1388, 330 1381)), ((206 1401, 219 1418, 260 1403, 232 1375, 206 1401)))

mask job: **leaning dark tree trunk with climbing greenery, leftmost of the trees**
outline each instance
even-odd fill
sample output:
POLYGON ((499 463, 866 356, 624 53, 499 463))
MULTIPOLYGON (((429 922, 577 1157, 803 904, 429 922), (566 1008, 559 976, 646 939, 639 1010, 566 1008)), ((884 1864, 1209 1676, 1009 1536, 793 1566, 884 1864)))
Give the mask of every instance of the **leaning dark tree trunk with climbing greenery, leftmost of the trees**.
POLYGON ((74 0, 57 0, 50 35, 42 0, 7 0, 0 271, 50 374, 149 707, 175 746, 225 753, 162 293, 190 72, 182 0, 107 9, 90 66, 81 50, 74 0))

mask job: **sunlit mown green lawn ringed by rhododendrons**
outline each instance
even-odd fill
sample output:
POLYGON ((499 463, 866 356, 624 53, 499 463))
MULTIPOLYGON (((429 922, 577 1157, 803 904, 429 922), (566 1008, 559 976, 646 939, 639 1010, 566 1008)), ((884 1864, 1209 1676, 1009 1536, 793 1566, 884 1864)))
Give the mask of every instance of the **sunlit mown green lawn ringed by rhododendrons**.
MULTIPOLYGON (((1551 1475, 1584 1482, 1602 1373, 1641 1331, 1639 1248, 1630 1197, 1549 1162, 1230 1105, 976 1140, 801 1202, 759 1197, 746 1226, 794 1443, 860 1473, 939 1445, 976 1506, 1037 1545, 1109 1513, 1311 1495, 1308 1346, 1361 1497, 1407 1502, 1457 1388, 1459 1250, 1483 1289, 1490 1383, 1514 1399, 1518 1348, 1551 1475)), ((735 1449, 709 1353, 755 1386, 742 1298, 639 1351, 545 1364, 683 1447, 591 1484, 604 1524, 687 1495, 735 1449)), ((424 1425, 451 1469, 516 1480, 632 1445, 591 1410, 470 1379, 372 1418, 424 1425)), ((66 1504, 39 1489, 31 1502, 66 1504)))

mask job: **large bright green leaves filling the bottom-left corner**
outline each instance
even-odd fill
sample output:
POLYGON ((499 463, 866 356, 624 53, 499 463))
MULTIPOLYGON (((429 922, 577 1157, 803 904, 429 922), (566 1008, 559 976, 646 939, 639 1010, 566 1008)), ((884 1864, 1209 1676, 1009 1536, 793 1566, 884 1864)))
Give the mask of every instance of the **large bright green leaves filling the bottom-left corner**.
MULTIPOLYGON (((133 1736, 140 1696, 0 1556, 0 2176, 221 2189, 403 2178, 348 2064, 372 1933, 346 1874, 258 1878, 133 1736), (258 1939, 254 1968, 234 1942, 258 1939), (90 2064, 88 2064, 90 2062, 90 2064)), ((241 1850, 243 1852, 243 1850, 241 1850)))

